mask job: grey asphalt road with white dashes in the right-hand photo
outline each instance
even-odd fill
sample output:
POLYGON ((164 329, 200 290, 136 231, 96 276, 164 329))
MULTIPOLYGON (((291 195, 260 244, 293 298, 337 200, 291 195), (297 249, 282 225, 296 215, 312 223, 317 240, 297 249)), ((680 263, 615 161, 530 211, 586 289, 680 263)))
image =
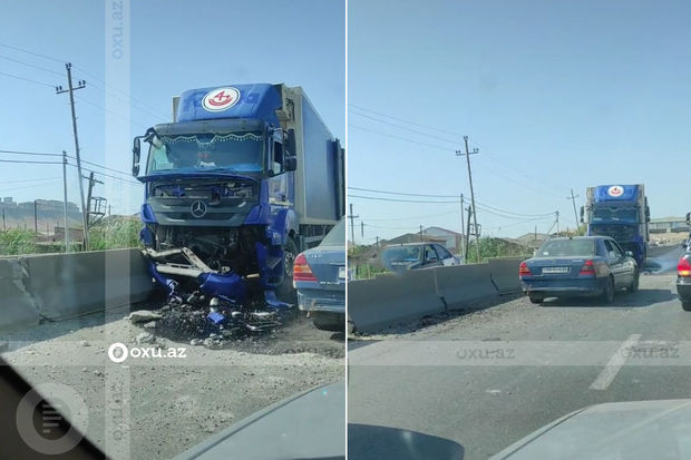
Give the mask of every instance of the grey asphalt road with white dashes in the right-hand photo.
MULTIPOLYGON (((653 266, 675 268, 680 253, 659 249, 653 266)), ((606 306, 519 297, 351 342, 349 423, 437 437, 465 459, 485 459, 586 405, 691 398, 691 313, 674 278, 644 275, 638 293, 606 306)))

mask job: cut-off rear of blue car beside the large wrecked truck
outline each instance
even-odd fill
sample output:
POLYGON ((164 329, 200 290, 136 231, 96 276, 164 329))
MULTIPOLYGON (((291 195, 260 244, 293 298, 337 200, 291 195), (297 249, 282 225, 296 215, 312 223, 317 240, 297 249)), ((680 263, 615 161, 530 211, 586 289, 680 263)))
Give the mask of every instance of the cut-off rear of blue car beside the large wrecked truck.
POLYGON ((309 312, 317 329, 346 331, 346 219, 317 247, 295 257, 293 286, 298 307, 309 312))

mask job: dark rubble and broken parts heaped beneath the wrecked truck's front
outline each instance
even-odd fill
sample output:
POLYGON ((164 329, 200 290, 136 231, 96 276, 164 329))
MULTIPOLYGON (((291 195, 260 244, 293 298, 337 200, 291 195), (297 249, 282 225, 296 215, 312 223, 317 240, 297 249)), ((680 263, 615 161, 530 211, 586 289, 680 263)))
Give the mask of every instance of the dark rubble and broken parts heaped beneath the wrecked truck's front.
POLYGON ((195 291, 169 295, 159 310, 139 310, 128 319, 146 331, 137 336, 137 342, 150 343, 158 335, 220 349, 231 341, 275 331, 282 316, 281 310, 267 307, 259 300, 239 304, 224 297, 208 298, 195 291))

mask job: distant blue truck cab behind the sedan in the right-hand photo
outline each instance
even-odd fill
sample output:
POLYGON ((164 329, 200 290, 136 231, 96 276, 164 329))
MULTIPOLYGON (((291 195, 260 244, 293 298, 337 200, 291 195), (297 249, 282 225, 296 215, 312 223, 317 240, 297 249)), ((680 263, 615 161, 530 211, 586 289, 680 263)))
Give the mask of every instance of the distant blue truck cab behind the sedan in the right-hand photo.
POLYGON ((581 222, 587 224, 588 236, 614 238, 643 266, 650 241, 650 208, 643 184, 588 187, 581 222))

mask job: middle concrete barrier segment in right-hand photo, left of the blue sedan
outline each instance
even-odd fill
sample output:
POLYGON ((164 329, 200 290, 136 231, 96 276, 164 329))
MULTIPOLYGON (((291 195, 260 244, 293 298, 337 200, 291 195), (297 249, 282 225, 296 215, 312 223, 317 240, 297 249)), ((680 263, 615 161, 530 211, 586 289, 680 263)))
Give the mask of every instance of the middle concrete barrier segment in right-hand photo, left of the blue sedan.
POLYGON ((437 295, 451 309, 461 309, 475 302, 498 295, 492 284, 488 264, 444 266, 434 270, 437 295))

